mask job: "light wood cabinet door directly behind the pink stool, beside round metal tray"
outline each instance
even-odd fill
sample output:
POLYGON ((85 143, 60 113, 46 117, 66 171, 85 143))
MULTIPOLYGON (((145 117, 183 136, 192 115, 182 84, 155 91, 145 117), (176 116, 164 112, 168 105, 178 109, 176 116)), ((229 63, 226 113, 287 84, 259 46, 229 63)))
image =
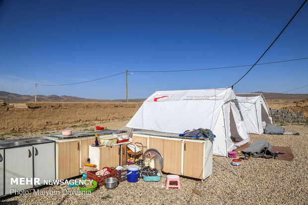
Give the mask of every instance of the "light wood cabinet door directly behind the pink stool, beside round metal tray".
POLYGON ((163 141, 163 171, 182 175, 182 141, 164 139, 163 141))

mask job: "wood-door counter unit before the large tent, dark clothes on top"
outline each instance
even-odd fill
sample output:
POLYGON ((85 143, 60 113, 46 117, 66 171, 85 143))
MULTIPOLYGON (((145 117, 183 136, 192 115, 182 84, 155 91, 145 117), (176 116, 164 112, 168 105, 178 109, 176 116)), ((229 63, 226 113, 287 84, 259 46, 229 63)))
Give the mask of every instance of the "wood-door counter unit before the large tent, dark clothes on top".
POLYGON ((154 148, 163 157, 163 172, 204 180, 212 174, 213 141, 205 137, 179 137, 176 133, 131 132, 133 143, 154 148))

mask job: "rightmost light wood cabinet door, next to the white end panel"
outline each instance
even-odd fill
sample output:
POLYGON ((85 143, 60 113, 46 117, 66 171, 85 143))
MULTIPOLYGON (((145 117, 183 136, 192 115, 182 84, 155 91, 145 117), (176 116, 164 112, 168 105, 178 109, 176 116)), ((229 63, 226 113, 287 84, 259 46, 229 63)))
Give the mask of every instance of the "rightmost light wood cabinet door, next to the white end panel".
POLYGON ((203 151, 203 142, 184 141, 184 176, 203 178, 203 151))

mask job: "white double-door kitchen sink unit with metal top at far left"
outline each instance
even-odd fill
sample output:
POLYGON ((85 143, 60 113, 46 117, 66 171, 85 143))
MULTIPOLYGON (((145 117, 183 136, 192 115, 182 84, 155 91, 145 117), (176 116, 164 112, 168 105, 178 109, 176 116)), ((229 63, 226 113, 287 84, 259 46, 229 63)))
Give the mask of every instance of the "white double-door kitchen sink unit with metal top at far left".
MULTIPOLYGON (((0 196, 11 190, 23 191, 38 184, 11 184, 11 178, 53 180, 55 176, 55 142, 40 137, 3 140, 0 142, 0 196)), ((32 181, 33 182, 33 181, 32 181)))

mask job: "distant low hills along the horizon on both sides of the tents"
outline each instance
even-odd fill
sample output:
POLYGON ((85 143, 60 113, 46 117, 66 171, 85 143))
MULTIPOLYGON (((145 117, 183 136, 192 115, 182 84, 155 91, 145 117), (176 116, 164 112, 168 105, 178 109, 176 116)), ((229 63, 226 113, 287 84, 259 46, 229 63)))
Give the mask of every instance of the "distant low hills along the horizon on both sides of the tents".
MULTIPOLYGON (((273 92, 252 92, 252 93, 262 93, 267 100, 272 99, 307 99, 308 94, 286 94, 286 93, 273 93, 273 92)), ((34 95, 19 95, 16 93, 10 93, 5 91, 0 91, 0 100, 4 100, 6 103, 25 103, 34 102, 34 95)), ((130 102, 143 102, 145 98, 141 99, 129 99, 130 102)), ((87 99, 68 95, 36 95, 37 102, 126 102, 125 99, 118 100, 98 100, 98 99, 87 99)))

